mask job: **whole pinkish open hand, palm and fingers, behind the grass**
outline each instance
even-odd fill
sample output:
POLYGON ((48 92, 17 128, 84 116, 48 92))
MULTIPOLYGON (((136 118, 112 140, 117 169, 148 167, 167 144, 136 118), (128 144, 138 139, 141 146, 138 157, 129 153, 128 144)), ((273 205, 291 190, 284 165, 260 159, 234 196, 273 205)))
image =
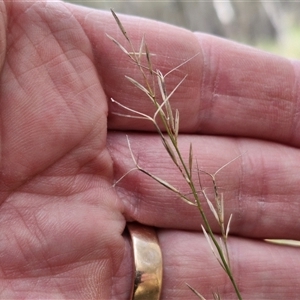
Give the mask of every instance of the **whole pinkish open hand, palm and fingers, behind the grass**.
MULTIPOLYGON (((129 299, 132 249, 126 222, 157 228, 161 299, 234 299, 200 230, 197 209, 134 171, 139 163, 184 189, 150 123, 113 115, 110 103, 151 113, 124 75, 138 78, 106 33, 108 12, 63 2, 0 3, 0 298, 129 299)), ((300 256, 263 241, 300 239, 300 64, 244 45, 121 16, 134 44, 145 34, 180 110, 180 147, 215 172, 229 251, 243 299, 295 299, 300 256)), ((204 184, 208 180, 203 178, 204 184)), ((206 210, 207 211, 207 210, 206 210)), ((207 211, 208 212, 208 211, 207 211)), ((208 212, 209 213, 209 212, 208 212)), ((213 221, 212 218, 210 218, 213 221)), ((216 225, 213 228, 218 232, 216 225)))

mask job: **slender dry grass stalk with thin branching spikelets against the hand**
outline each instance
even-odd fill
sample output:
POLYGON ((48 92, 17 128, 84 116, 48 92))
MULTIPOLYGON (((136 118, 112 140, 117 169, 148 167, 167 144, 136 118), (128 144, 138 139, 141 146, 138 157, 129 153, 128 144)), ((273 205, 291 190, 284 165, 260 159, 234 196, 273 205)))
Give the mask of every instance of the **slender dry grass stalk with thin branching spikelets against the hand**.
MULTIPOLYGON (((121 21, 117 17, 117 15, 112 11, 113 17, 116 20, 116 23, 119 26, 119 29, 121 30, 123 36, 125 37, 126 41, 129 44, 130 51, 126 49, 121 43, 119 43, 116 39, 113 37, 108 36, 109 39, 111 39, 120 49, 123 51, 129 58, 134 62, 134 64, 138 67, 140 74, 142 75, 142 80, 143 83, 138 82, 134 78, 131 78, 129 76, 125 76, 136 88, 141 90, 148 99, 153 103, 155 107, 155 112, 154 114, 148 115, 139 111, 136 111, 130 107, 127 107, 123 105, 122 103, 116 101, 115 99, 111 99, 113 103, 124 109, 128 114, 126 113, 115 113, 118 116, 121 117, 126 117, 126 118, 138 118, 138 119, 143 119, 150 121, 158 135, 161 138, 162 145, 164 146, 165 150, 167 151, 169 157, 171 158, 172 162, 182 175, 183 179, 186 181, 187 185, 189 186, 189 189, 191 193, 189 195, 184 194, 180 190, 178 190, 175 186, 171 185, 167 181, 159 178, 158 176, 148 172, 145 170, 142 166, 140 166, 135 159, 135 156, 133 154, 131 145, 130 145, 130 140, 127 137, 127 142, 128 142, 128 147, 130 150, 130 154, 132 157, 132 160, 135 164, 135 169, 141 171, 142 173, 146 174, 153 180, 157 181, 159 184, 179 196, 184 202, 186 202, 189 205, 196 206, 201 218, 203 225, 202 230, 204 233, 204 236, 207 239, 208 244, 211 247, 211 250, 215 257, 217 258, 217 261, 221 265, 222 269, 226 272, 228 275, 233 288, 235 290, 235 293, 237 295, 237 298, 239 300, 242 299, 242 296, 240 294, 239 288, 236 284, 236 281, 234 279, 231 266, 230 266, 230 259, 229 259, 229 252, 228 252, 228 246, 227 246, 227 240, 228 240, 228 235, 229 235, 229 230, 230 230, 230 222, 232 219, 232 215, 229 218, 229 221, 227 225, 225 226, 225 221, 224 221, 224 200, 223 200, 223 194, 219 193, 219 189, 216 183, 216 175, 223 169, 225 168, 228 164, 232 163, 235 159, 232 161, 228 162, 221 168, 219 168, 215 173, 210 174, 206 171, 203 171, 199 168, 198 162, 196 159, 193 157, 193 147, 192 144, 190 144, 189 148, 189 155, 188 155, 188 163, 185 162, 185 158, 182 156, 182 153, 179 150, 178 147, 178 136, 179 136, 179 111, 176 109, 175 111, 173 110, 171 103, 170 103, 170 98, 173 96, 173 94, 177 91, 177 89, 181 86, 182 82, 186 79, 187 75, 182 78, 182 80, 176 85, 176 87, 170 92, 167 93, 166 89, 166 83, 165 79, 167 76, 172 74, 175 70, 180 68, 182 65, 186 64, 189 62, 191 59, 193 59, 195 56, 191 57, 190 59, 186 60, 179 66, 175 67, 171 71, 167 72, 165 75, 160 70, 154 70, 153 69, 153 64, 151 61, 151 56, 152 54, 149 51, 149 48, 145 42, 145 39, 142 38, 140 47, 138 51, 135 51, 135 48, 124 28, 122 25, 121 21), (150 77, 150 79, 149 79, 150 77), (156 86, 158 86, 159 89, 159 94, 156 94, 156 86), (160 119, 162 122, 162 128, 158 125, 157 119, 160 119), (197 179, 194 179, 194 173, 196 171, 197 174, 197 179), (205 189, 202 187, 201 184, 201 174, 209 176, 212 182, 213 186, 213 194, 214 194, 214 201, 211 201, 208 197, 208 195, 205 192, 205 189), (200 191, 199 191, 199 186, 200 186, 200 191), (210 208, 213 216, 215 217, 216 221, 219 224, 220 231, 221 231, 221 238, 218 239, 214 232, 212 231, 211 224, 207 218, 207 215, 203 209, 203 200, 208 204, 208 207, 210 208)), ((129 172, 131 172, 130 170, 129 172)), ((128 172, 128 173, 129 173, 128 172)), ((127 175, 126 173, 125 175, 127 175)), ((124 175, 124 176, 125 176, 124 175)), ((122 178, 124 177, 122 176, 122 178)), ((188 288, 200 299, 205 300, 205 298, 198 292, 196 291, 193 287, 188 285, 188 288)), ((215 300, 221 299, 221 296, 219 292, 214 292, 213 297, 215 300)))

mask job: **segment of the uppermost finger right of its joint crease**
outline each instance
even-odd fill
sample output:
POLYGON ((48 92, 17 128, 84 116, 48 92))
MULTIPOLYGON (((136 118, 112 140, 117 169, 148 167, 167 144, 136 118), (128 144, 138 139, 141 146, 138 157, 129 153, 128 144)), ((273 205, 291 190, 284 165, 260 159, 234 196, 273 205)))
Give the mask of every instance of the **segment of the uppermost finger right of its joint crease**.
POLYGON ((197 128, 299 146, 299 62, 196 34, 203 50, 197 128))

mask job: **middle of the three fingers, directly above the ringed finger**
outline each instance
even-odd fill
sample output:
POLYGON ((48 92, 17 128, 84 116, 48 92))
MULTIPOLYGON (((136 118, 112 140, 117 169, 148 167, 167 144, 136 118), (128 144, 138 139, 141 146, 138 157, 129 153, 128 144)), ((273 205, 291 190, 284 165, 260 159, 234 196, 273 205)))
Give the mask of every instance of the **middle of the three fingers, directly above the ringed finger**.
MULTIPOLYGON (((135 166, 124 134, 110 133, 108 140, 115 178, 119 179, 135 166)), ((191 196, 191 190, 165 153, 159 137, 131 133, 129 140, 141 167, 191 196)), ((300 193, 300 153, 297 149, 248 139, 182 136, 179 145, 186 162, 189 143, 193 144, 196 189, 214 230, 219 230, 219 226, 200 192, 196 161, 199 168, 214 173, 241 155, 216 175, 219 192, 224 197, 226 220, 233 214, 231 234, 300 239, 297 229, 300 228, 297 197, 300 193)), ((200 175, 202 186, 214 203, 211 179, 200 175)), ((130 172, 116 188, 125 203, 128 220, 164 228, 200 229, 202 220, 197 208, 145 174, 130 172)))

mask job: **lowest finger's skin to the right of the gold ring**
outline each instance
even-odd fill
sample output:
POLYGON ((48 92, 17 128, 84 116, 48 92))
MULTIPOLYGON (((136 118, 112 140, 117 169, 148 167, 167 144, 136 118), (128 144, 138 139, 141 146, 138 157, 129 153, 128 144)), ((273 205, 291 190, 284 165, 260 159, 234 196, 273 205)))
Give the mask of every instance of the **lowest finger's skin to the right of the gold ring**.
MULTIPOLYGON (((206 299, 236 299, 233 287, 202 234, 161 231, 164 260, 161 299, 198 299, 188 283, 206 299)), ((299 249, 266 242, 229 239, 232 271, 243 299, 293 299, 300 292, 299 249), (291 274, 293 274, 291 276, 291 274)))

